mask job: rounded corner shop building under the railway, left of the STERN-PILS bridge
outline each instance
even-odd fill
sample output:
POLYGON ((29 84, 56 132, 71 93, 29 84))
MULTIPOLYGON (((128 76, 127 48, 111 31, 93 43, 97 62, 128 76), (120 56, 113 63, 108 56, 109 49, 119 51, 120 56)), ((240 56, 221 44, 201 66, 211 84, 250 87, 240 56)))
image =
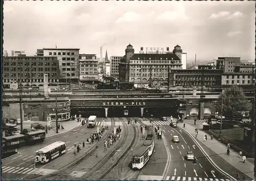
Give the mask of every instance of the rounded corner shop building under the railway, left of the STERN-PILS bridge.
POLYGON ((70 100, 55 102, 42 102, 40 104, 26 103, 24 104, 24 121, 58 121, 70 120, 70 100))

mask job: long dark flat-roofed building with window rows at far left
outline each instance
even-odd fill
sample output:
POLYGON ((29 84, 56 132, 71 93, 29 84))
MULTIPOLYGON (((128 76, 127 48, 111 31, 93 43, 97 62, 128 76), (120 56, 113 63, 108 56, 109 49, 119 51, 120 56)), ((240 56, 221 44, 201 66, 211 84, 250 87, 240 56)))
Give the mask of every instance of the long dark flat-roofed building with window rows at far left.
POLYGON ((44 86, 44 74, 50 84, 58 84, 59 65, 56 57, 4 57, 3 88, 20 80, 24 86, 44 86))

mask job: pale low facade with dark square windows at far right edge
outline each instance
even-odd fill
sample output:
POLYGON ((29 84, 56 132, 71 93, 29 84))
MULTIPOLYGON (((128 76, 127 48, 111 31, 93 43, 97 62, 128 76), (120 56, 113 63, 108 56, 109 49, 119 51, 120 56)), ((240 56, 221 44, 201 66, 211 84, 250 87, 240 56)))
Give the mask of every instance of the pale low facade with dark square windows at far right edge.
POLYGON ((255 77, 252 73, 224 73, 221 85, 252 85, 255 84, 255 77))

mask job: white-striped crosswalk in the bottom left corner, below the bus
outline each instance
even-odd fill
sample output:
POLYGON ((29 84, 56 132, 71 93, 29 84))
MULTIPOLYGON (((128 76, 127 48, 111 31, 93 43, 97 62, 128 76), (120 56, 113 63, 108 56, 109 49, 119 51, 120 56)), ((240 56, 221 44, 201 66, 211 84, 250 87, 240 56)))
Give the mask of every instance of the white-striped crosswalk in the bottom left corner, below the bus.
MULTIPOLYGON (((34 168, 10 167, 10 166, 3 166, 2 167, 2 172, 3 173, 31 174, 34 171, 35 171, 34 168)), ((40 168, 40 169, 36 169, 36 174, 38 174, 38 175, 48 175, 48 174, 51 174, 55 171, 57 171, 57 170, 40 168)))

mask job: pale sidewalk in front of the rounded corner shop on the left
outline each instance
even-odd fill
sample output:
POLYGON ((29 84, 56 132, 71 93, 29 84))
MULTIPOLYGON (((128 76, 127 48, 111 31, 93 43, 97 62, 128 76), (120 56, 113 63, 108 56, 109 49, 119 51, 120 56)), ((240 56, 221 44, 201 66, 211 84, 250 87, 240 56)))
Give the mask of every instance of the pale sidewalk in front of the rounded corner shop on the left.
MULTIPOLYGON (((45 122, 45 121, 26 121, 26 122, 23 122, 23 128, 24 129, 27 128, 30 130, 32 123, 39 123, 44 126, 47 125, 47 122, 45 122)), ((76 119, 76 120, 72 120, 72 121, 60 122, 59 124, 60 124, 60 126, 61 126, 61 124, 63 124, 64 130, 61 130, 61 128, 60 128, 60 130, 58 130, 58 133, 56 133, 56 122, 51 122, 52 127, 51 127, 51 130, 48 130, 48 133, 46 134, 46 138, 69 132, 69 131, 73 130, 74 128, 78 127, 81 124, 81 122, 77 122, 77 119, 76 119)))

